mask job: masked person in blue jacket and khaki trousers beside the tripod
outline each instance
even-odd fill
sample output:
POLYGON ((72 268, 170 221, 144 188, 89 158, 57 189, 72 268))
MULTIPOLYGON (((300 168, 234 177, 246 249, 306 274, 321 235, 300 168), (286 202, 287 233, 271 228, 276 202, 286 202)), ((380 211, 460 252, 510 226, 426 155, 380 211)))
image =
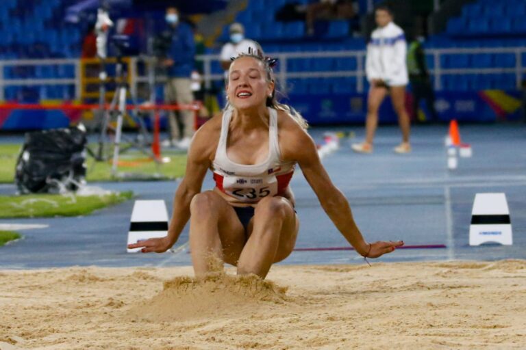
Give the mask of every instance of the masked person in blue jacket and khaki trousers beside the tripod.
MULTIPOLYGON (((171 6, 166 9, 166 23, 171 32, 171 44, 167 58, 162 61, 166 68, 168 81, 164 87, 164 98, 168 103, 186 105, 192 103, 194 97, 191 89, 192 70, 194 69, 195 42, 194 33, 188 23, 180 21, 179 10, 171 6)), ((169 115, 171 139, 163 146, 173 145, 187 149, 194 134, 194 113, 179 111, 176 116, 169 115)))

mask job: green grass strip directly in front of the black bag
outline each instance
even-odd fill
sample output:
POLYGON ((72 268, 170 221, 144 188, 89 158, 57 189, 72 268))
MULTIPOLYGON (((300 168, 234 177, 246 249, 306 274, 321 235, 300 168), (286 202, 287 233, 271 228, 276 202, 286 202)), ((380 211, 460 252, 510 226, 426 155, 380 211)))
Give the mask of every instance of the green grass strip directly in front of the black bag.
POLYGON ((134 197, 132 191, 104 196, 60 196, 37 194, 0 196, 0 218, 87 215, 134 197))

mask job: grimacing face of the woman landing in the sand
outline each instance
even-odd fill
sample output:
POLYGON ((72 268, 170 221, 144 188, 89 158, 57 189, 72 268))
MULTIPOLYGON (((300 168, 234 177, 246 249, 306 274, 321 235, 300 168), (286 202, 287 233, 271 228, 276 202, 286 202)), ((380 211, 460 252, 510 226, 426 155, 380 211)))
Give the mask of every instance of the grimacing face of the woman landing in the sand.
POLYGON ((230 65, 227 96, 237 109, 264 106, 274 83, 268 81, 264 64, 253 57, 240 57, 230 65))

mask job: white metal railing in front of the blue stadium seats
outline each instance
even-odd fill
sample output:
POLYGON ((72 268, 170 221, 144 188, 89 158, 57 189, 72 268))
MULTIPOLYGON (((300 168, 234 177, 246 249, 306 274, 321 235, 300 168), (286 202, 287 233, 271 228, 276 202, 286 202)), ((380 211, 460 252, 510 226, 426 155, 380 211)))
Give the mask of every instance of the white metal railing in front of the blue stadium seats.
MULTIPOLYGON (((512 74, 515 77, 515 87, 521 88, 523 74, 526 72, 526 48, 485 48, 485 49, 429 49, 426 55, 432 60, 433 67, 429 73, 434 77, 434 88, 442 90, 442 77, 445 75, 503 75, 512 74), (442 57, 448 55, 480 55, 480 54, 508 54, 514 55, 514 66, 491 66, 488 68, 445 68, 442 66, 442 57)), ((362 93, 366 87, 365 77, 365 51, 314 51, 314 52, 289 52, 271 53, 273 57, 279 59, 279 66, 276 72, 277 79, 283 90, 287 90, 290 79, 312 79, 312 78, 356 78, 356 92, 362 93), (325 70, 325 71, 290 71, 289 62, 291 59, 312 59, 312 58, 334 58, 334 59, 355 59, 356 68, 352 70, 325 70)), ((214 81, 224 79, 222 73, 213 73, 212 64, 219 60, 218 55, 201 55, 197 57, 203 61, 203 82, 205 87, 210 88, 214 81)), ((129 59, 129 83, 130 90, 137 91, 139 83, 151 82, 148 75, 139 75, 138 62, 145 62, 147 65, 153 64, 153 59, 139 59, 130 57, 129 59)), ((5 88, 10 86, 36 86, 36 85, 73 85, 75 87, 75 99, 80 100, 82 92, 82 62, 80 59, 12 59, 0 61, 0 100, 5 100, 5 88), (4 77, 4 68, 16 66, 62 66, 73 65, 74 77, 68 78, 49 78, 49 79, 9 79, 4 77)), ((162 83, 166 77, 158 77, 156 81, 162 83)))

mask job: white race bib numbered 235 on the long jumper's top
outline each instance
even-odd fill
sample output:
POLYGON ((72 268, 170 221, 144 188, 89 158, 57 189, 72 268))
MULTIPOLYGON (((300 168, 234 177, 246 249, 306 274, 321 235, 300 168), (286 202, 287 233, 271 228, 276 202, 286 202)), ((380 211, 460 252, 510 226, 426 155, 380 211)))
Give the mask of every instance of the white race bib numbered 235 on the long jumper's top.
POLYGON ((242 202, 258 202, 262 198, 277 195, 277 179, 275 176, 265 178, 228 176, 223 180, 223 191, 242 202))

